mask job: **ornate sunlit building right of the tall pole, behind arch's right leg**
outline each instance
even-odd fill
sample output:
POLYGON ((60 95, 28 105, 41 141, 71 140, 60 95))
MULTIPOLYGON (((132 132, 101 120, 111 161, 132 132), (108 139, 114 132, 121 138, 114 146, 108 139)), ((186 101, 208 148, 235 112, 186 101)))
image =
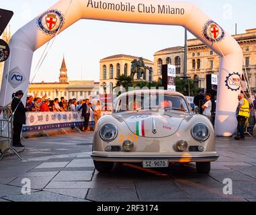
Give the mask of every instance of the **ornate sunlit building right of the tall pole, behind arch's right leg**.
MULTIPOLYGON (((253 91, 256 90, 256 29, 233 36, 243 50, 243 71, 247 72, 253 91)), ((206 88, 206 75, 218 75, 220 57, 200 40, 187 41, 187 75, 194 79, 198 87, 206 88)), ((242 69, 242 68, 239 68, 242 69)))

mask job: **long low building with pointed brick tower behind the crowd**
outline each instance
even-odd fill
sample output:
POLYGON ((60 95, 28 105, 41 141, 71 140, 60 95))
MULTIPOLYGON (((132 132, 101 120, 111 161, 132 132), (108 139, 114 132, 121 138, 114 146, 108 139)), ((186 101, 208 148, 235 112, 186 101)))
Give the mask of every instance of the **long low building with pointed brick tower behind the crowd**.
POLYGON ((37 95, 54 99, 65 97, 65 99, 86 99, 99 95, 99 82, 94 81, 69 81, 65 58, 63 57, 60 67, 59 81, 55 83, 32 83, 28 89, 28 95, 37 95))

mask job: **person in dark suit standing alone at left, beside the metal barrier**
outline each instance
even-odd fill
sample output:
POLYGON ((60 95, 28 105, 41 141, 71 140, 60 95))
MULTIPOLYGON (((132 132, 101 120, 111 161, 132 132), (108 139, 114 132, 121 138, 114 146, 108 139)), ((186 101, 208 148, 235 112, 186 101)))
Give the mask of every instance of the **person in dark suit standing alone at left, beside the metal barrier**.
POLYGON ((26 124, 26 108, 22 103, 23 91, 17 91, 11 101, 11 111, 13 112, 13 146, 23 148, 20 142, 22 126, 26 124))

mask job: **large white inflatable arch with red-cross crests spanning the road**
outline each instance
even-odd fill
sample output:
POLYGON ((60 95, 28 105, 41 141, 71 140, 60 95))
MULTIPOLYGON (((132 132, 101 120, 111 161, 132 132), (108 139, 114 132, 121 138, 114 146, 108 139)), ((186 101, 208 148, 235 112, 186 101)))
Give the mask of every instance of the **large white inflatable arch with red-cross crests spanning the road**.
POLYGON ((60 0, 11 38, 5 62, 0 105, 29 85, 33 52, 79 19, 183 26, 220 56, 216 134, 231 136, 240 90, 243 52, 237 42, 193 3, 148 0, 60 0))

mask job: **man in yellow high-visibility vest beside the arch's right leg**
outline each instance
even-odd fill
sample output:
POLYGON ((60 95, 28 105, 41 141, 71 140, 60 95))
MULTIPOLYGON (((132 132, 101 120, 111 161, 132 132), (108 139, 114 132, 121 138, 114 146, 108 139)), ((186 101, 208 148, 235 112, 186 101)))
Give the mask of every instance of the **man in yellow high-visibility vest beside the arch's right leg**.
POLYGON ((250 117, 249 102, 243 93, 239 94, 239 105, 237 107, 237 136, 235 140, 245 140, 245 122, 250 117))

